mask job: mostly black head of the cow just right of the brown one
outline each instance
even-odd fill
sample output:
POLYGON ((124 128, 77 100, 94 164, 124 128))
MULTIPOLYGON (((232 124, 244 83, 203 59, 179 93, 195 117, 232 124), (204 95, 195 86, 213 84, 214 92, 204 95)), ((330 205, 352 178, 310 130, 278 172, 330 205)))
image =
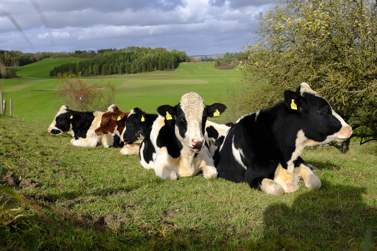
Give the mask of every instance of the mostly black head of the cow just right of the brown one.
POLYGON ((140 108, 132 109, 126 119, 126 127, 123 130, 121 139, 128 144, 140 143, 144 138, 142 124, 145 121, 146 113, 140 108))

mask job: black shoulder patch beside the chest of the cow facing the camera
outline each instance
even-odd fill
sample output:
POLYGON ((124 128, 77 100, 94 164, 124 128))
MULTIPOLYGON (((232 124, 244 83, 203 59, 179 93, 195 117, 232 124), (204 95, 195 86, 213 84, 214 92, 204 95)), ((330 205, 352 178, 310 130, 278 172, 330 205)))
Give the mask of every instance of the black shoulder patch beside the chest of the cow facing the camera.
POLYGON ((162 148, 166 147, 167 152, 173 158, 178 158, 181 155, 181 150, 183 149, 182 143, 178 140, 174 127, 167 124, 161 127, 157 136, 157 146, 162 148))

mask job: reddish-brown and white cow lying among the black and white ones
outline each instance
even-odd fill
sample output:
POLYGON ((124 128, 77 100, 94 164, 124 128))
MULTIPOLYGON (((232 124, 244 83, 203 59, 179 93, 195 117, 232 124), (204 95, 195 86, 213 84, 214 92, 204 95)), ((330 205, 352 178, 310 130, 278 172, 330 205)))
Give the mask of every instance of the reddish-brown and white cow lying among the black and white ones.
POLYGON ((105 135, 110 133, 114 137, 114 146, 127 148, 127 144, 124 144, 120 138, 120 135, 123 132, 128 115, 129 112, 122 112, 119 110, 117 105, 112 104, 109 106, 109 108, 107 108, 107 112, 102 115, 100 127, 95 129, 94 132, 97 135, 105 135))

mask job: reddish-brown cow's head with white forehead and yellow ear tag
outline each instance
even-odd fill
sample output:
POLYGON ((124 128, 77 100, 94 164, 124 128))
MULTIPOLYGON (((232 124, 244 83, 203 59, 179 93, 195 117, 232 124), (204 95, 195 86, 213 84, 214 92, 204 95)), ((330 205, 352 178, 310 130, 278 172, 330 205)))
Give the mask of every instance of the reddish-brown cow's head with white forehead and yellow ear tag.
POLYGON ((124 113, 118 109, 118 106, 111 105, 102 115, 100 127, 94 130, 97 135, 104 135, 107 133, 114 133, 116 127, 118 126, 118 121, 126 116, 127 118, 128 113, 124 113))

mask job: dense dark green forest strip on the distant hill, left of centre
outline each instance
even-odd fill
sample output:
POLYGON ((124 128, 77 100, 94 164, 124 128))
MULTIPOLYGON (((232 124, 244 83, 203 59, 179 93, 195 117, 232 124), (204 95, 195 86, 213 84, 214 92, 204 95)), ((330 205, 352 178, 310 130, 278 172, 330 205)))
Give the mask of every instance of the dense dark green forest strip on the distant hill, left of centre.
POLYGON ((189 62, 185 51, 167 51, 164 48, 127 47, 124 49, 105 49, 97 51, 97 57, 78 63, 67 63, 54 67, 50 76, 58 74, 81 73, 84 77, 125 73, 151 72, 154 70, 173 70, 181 62, 189 62))

